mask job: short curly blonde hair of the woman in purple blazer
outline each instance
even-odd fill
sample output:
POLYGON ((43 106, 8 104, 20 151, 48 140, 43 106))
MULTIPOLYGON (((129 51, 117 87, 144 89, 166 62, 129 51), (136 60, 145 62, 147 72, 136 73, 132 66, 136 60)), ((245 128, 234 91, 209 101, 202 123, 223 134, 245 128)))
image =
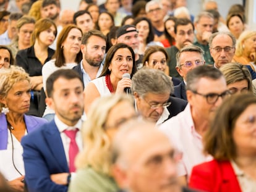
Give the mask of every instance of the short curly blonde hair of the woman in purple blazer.
MULTIPOLYGON (((15 83, 27 80, 30 83, 30 77, 22 67, 12 65, 10 68, 0 70, 0 98, 5 98, 15 83)), ((0 103, 0 111, 4 104, 0 103)))

